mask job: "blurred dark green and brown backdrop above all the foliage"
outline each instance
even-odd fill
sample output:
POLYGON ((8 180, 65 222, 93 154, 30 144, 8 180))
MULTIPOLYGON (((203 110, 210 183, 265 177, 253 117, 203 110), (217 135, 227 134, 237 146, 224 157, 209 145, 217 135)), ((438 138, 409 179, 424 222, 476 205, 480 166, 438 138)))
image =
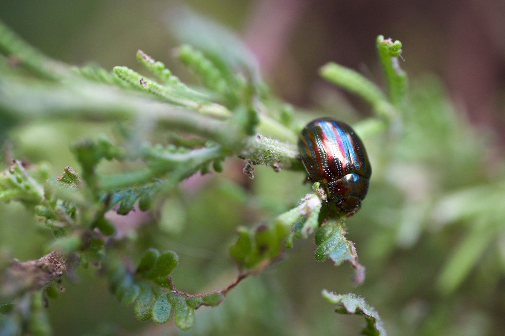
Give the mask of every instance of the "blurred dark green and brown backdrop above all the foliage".
MULTIPOLYGON (((411 78, 441 76, 460 110, 505 143, 505 2, 478 1, 187 1, 191 9, 236 31, 264 76, 284 98, 310 105, 328 61, 381 79, 378 34, 404 45, 411 78)), ((135 67, 140 48, 168 63, 177 45, 167 25, 175 1, 3 2, 0 18, 30 43, 65 62, 135 67)), ((361 107, 361 106, 360 106, 361 107)), ((360 110, 363 110, 360 108, 360 110)))

